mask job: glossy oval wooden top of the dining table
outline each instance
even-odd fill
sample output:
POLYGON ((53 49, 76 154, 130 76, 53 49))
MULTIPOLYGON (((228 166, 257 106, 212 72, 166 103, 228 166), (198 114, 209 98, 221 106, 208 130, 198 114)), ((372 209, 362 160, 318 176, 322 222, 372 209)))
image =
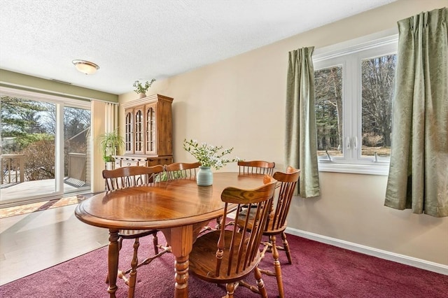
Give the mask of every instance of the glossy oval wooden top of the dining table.
POLYGON ((82 201, 75 215, 88 225, 108 229, 180 227, 221 216, 225 187, 253 189, 261 185, 260 174, 219 172, 214 173, 211 186, 179 179, 96 194, 82 201))

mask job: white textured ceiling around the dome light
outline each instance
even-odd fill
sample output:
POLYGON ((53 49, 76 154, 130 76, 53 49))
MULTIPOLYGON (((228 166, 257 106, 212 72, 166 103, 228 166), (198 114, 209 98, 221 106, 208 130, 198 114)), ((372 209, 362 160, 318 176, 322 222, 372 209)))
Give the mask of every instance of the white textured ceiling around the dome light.
POLYGON ((123 94, 393 1, 0 0, 0 69, 123 94))

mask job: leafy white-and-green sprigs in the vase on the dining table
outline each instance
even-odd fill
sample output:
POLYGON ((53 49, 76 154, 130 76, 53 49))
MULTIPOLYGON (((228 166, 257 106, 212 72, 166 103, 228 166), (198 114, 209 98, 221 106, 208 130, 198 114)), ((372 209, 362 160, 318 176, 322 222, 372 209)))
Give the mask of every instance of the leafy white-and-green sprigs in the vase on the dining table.
POLYGON ((214 169, 221 169, 225 164, 229 162, 237 162, 240 159, 236 157, 235 159, 225 158, 225 155, 230 154, 233 148, 223 149, 223 146, 213 146, 207 143, 197 143, 196 140, 187 141, 183 140, 183 149, 188 153, 193 155, 201 166, 211 166, 214 169))

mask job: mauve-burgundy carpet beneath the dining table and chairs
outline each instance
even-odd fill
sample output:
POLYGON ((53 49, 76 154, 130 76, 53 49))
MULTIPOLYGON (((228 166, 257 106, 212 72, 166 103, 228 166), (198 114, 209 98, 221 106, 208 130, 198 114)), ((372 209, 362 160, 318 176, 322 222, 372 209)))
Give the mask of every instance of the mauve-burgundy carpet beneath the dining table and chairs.
MULTIPOLYGON (((164 243, 162 233, 160 243, 164 243)), ((286 297, 448 297, 448 276, 382 260, 335 246, 288 235, 293 264, 281 253, 286 297)), ((141 239, 141 252, 151 248, 151 236, 141 239)), ((130 264, 132 241, 124 241, 120 264, 130 264), (124 260, 126 257, 126 260, 124 260)), ((109 297, 106 292, 107 247, 0 287, 0 297, 109 297)), ((267 254, 260 268, 271 267, 267 254)), ((123 268, 123 266, 121 266, 123 268)), ((1 274, 8 274, 2 272, 1 274)), ((250 276, 253 281, 253 275, 250 276)), ((263 276, 269 297, 277 297, 274 277, 263 276)), ((174 256, 165 254, 141 267, 135 297, 173 297, 174 256)), ((248 279, 249 280, 249 279, 248 279)), ((225 289, 190 275, 189 297, 223 297, 225 289)), ((118 280, 117 297, 127 297, 118 280)), ((260 297, 237 288, 236 297, 260 297)))

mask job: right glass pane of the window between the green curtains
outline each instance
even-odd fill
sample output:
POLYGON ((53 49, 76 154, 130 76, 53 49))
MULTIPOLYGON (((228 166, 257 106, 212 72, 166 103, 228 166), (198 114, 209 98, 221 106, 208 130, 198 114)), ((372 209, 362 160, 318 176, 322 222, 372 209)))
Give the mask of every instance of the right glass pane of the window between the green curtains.
POLYGON ((365 59, 362 73, 363 157, 391 154, 391 112, 396 55, 365 59))

